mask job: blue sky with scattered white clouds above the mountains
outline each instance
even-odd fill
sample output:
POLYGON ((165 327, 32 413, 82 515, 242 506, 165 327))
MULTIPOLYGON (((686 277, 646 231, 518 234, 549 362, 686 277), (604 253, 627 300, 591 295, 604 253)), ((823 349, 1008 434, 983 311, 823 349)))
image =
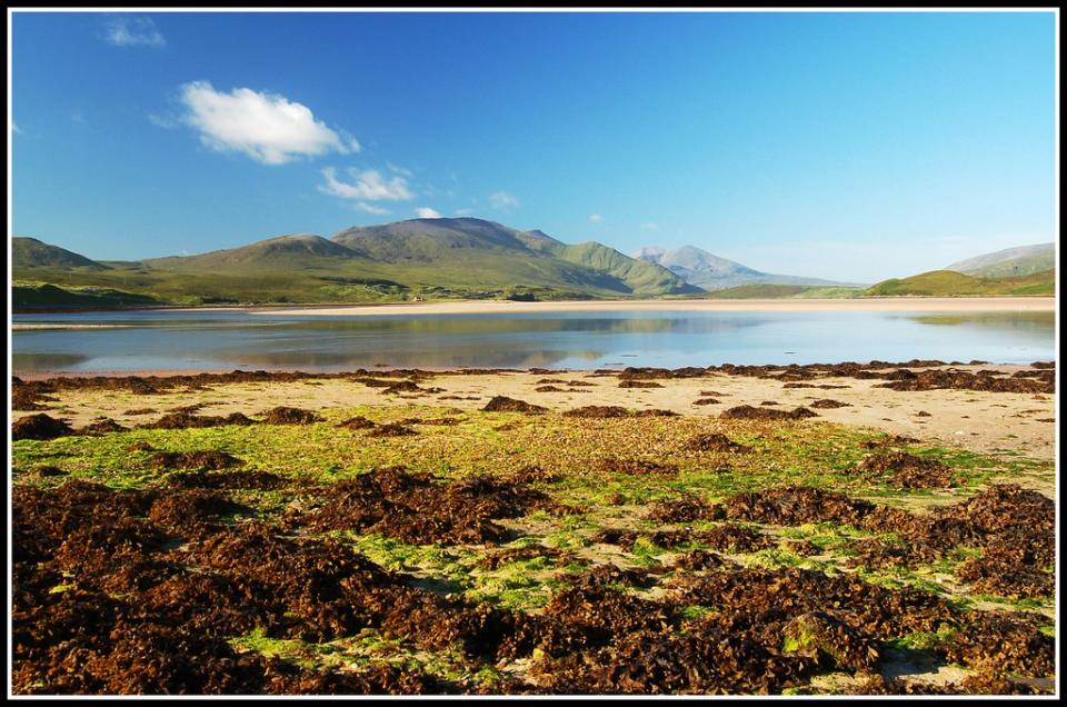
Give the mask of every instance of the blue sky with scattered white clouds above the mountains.
POLYGON ((13 232, 101 259, 420 213, 856 281, 1056 238, 1055 16, 29 13, 13 232))

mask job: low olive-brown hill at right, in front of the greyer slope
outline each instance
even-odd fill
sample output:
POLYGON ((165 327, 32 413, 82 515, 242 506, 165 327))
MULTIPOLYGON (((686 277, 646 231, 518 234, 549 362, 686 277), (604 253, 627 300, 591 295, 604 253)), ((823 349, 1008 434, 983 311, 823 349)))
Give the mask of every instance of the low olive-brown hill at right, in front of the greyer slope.
POLYGON ((1055 271, 1045 270, 1020 277, 976 278, 953 270, 934 270, 909 278, 878 282, 865 297, 993 297, 1049 296, 1056 290, 1055 271))

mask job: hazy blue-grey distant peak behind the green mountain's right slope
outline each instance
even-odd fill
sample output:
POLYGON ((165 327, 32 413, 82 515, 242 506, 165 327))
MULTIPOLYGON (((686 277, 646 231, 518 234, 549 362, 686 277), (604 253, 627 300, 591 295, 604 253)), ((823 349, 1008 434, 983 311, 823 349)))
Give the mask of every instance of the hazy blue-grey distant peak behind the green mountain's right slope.
POLYGON ((739 262, 714 256, 695 246, 682 246, 671 250, 648 246, 635 252, 634 258, 662 266, 690 285, 696 285, 709 292, 742 285, 859 287, 849 282, 760 272, 739 262))

